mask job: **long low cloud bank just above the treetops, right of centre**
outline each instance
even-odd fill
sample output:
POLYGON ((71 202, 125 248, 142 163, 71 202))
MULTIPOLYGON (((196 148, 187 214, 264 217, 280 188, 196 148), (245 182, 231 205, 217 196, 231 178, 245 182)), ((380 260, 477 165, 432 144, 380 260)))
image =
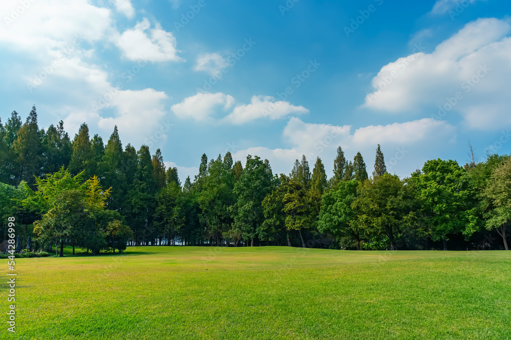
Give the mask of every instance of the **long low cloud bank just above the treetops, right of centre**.
POLYGON ((416 168, 421 168, 427 159, 435 156, 431 150, 449 147, 456 142, 456 128, 432 118, 371 125, 353 133, 351 130, 349 125, 305 123, 293 117, 282 134, 289 148, 250 147, 235 152, 233 157, 245 162, 247 154, 258 155, 270 161, 274 173, 289 173, 294 160, 305 154, 311 167, 317 157, 321 158, 330 176, 337 147, 341 146, 348 160, 360 151, 370 173, 373 170, 376 147, 381 144, 388 171, 408 176, 416 168))

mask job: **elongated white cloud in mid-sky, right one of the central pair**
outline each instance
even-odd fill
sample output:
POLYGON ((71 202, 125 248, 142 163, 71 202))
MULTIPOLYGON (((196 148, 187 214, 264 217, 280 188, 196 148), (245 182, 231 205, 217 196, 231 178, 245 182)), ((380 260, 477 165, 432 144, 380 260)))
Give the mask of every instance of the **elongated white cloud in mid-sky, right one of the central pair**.
POLYGON ((259 118, 278 119, 291 114, 309 113, 303 106, 294 106, 288 101, 278 100, 270 96, 253 96, 250 104, 237 106, 223 120, 239 125, 259 118))

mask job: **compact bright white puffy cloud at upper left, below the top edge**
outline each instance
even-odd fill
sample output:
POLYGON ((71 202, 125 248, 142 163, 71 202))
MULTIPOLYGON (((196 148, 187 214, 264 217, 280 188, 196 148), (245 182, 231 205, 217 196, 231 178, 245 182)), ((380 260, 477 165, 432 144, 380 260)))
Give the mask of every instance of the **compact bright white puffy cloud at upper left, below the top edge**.
POLYGON ((152 62, 184 61, 178 56, 180 51, 176 49, 176 38, 172 33, 162 30, 159 23, 154 29, 150 27, 149 20, 144 18, 116 39, 115 44, 123 51, 123 56, 129 60, 152 62))

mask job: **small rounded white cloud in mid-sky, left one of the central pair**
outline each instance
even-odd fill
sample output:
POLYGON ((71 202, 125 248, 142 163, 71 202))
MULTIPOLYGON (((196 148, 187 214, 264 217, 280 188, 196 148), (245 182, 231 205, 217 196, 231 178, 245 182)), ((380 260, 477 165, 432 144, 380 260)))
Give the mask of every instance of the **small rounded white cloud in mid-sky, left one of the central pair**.
POLYGON ((210 118, 218 107, 228 110, 234 102, 232 96, 223 93, 197 93, 174 104, 171 110, 178 118, 201 121, 210 118))

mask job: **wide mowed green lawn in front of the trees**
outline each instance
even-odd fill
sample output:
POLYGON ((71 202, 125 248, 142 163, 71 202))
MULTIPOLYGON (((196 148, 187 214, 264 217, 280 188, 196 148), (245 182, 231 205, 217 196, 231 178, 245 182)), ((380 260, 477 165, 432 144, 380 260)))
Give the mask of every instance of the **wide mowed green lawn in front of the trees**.
POLYGON ((511 338, 509 251, 130 247, 16 272, 2 338, 511 338))

